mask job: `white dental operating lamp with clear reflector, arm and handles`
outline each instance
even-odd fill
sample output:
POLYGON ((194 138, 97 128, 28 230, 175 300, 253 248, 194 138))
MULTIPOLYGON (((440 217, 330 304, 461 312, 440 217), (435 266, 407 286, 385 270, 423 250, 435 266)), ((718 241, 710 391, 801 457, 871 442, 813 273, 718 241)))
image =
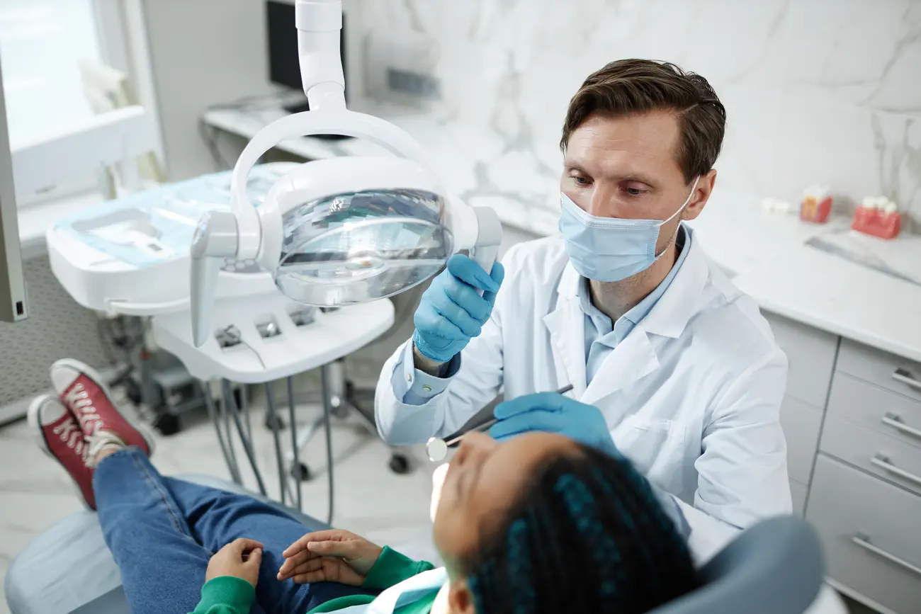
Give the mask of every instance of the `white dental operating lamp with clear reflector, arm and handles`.
POLYGON ((397 295, 436 274, 461 249, 489 272, 502 237, 495 211, 449 194, 425 150, 390 122, 347 110, 340 55, 342 0, 297 0, 297 43, 309 111, 257 133, 240 154, 231 208, 205 214, 192 239, 192 341, 213 334, 217 276, 227 260, 257 261, 282 294, 340 307, 397 295), (391 156, 337 157, 299 165, 256 208, 251 169, 280 141, 337 133, 391 156))

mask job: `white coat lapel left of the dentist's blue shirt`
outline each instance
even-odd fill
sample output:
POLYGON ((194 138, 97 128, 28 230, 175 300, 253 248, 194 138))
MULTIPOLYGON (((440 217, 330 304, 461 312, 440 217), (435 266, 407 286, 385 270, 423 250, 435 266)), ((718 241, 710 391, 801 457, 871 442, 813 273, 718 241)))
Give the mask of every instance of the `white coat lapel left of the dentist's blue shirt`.
POLYGON ((579 275, 566 264, 557 287, 554 311, 543 317, 554 349, 556 380, 560 387, 572 384, 576 399, 585 392, 585 314, 576 294, 579 275))

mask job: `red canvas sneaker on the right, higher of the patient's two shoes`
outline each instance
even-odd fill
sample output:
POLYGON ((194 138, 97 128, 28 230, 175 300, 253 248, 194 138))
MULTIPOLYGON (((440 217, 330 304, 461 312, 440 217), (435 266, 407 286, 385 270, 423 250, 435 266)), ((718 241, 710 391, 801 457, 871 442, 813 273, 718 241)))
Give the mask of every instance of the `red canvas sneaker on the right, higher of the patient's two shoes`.
POLYGON ((59 360, 52 365, 52 384, 87 437, 104 429, 126 446, 140 447, 148 457, 153 453, 153 438, 118 411, 109 388, 91 366, 71 358, 59 360))

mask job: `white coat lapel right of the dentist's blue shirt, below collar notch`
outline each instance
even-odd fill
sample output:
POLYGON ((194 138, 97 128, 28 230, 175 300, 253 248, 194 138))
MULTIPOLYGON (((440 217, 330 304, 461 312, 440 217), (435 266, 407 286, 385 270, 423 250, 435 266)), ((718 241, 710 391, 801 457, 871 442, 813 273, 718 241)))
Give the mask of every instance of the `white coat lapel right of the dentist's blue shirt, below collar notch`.
POLYGON ((579 399, 596 405, 609 394, 632 384, 659 368, 659 358, 649 342, 646 330, 637 326, 609 353, 592 378, 589 388, 579 399))

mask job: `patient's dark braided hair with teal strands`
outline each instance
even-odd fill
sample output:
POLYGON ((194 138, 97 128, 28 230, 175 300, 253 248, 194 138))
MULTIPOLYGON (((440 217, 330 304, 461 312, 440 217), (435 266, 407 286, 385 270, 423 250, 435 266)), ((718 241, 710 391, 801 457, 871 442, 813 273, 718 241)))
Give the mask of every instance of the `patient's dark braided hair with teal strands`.
POLYGON ((534 471, 461 571, 477 614, 639 614, 695 585, 684 539, 646 479, 585 446, 534 471))

